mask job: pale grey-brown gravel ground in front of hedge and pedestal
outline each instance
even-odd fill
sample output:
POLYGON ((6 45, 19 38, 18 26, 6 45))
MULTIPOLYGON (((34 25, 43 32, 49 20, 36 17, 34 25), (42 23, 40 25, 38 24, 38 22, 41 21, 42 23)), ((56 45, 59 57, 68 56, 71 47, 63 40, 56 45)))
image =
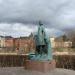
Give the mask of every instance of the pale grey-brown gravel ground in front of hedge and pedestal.
POLYGON ((0 75, 75 75, 75 71, 55 69, 48 73, 27 71, 23 67, 0 68, 0 75))

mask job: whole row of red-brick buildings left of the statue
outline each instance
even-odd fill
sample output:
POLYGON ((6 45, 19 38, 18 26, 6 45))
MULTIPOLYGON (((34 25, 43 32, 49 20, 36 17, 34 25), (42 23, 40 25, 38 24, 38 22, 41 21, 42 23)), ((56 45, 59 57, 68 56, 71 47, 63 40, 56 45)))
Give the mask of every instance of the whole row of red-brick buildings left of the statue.
POLYGON ((28 53, 35 50, 35 42, 33 36, 13 38, 11 36, 5 37, 5 51, 18 51, 28 53))

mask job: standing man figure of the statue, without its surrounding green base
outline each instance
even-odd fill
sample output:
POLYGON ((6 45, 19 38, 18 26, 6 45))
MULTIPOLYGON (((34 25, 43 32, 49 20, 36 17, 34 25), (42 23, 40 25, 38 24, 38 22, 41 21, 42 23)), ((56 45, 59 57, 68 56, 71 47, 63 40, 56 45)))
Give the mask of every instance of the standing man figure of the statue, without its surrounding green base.
POLYGON ((41 22, 39 22, 39 28, 38 28, 36 41, 37 41, 36 53, 38 54, 47 53, 46 33, 45 33, 44 26, 41 22))

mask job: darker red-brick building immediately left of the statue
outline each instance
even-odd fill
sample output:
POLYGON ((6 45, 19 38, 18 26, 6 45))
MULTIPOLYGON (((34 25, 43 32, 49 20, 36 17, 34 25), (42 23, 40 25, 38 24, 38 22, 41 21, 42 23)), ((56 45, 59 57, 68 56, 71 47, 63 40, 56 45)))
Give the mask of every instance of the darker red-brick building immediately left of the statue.
POLYGON ((20 37, 15 38, 14 41, 15 50, 28 53, 30 50, 35 49, 34 40, 32 37, 20 37))

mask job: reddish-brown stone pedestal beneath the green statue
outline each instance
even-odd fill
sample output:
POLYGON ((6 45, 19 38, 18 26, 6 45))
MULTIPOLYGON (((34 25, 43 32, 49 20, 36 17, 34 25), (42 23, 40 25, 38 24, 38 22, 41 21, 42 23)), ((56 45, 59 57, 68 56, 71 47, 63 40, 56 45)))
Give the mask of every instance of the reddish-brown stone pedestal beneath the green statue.
POLYGON ((25 69, 26 70, 48 72, 50 70, 55 69, 55 67, 56 67, 55 60, 52 60, 52 61, 32 61, 32 60, 26 60, 25 61, 25 69))

